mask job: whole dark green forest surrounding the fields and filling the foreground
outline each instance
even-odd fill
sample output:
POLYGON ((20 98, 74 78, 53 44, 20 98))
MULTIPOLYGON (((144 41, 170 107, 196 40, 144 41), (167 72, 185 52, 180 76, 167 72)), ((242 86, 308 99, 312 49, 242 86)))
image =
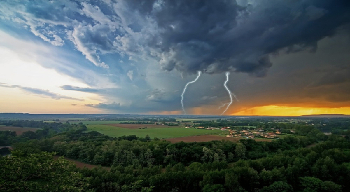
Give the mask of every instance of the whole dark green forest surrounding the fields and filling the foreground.
POLYGON ((193 143, 109 137, 86 132, 81 123, 2 121, 3 125, 41 129, 20 136, 0 132, 1 145, 14 149, 10 156, 0 158, 0 191, 350 191, 349 136, 322 132, 327 126, 327 131, 345 133, 348 120, 235 122, 293 129, 295 134, 272 142, 193 143), (54 155, 100 166, 78 169, 63 157, 55 160, 54 155))

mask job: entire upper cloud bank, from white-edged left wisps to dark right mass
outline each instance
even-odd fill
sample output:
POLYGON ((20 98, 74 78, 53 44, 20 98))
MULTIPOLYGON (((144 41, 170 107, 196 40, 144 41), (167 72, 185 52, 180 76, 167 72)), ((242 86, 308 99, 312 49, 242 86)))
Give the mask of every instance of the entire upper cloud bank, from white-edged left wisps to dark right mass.
POLYGON ((16 13, 23 18, 15 9, 3 14, 54 45, 68 39, 96 66, 110 67, 100 57, 106 54, 151 56, 164 70, 189 74, 265 76, 272 54, 315 52, 319 40, 350 22, 348 0, 27 1, 25 7, 16 13))

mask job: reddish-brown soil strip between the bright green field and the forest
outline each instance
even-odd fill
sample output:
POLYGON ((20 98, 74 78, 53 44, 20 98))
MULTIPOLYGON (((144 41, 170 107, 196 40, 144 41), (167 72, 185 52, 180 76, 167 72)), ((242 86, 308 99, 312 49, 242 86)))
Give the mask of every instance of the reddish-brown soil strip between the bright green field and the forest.
MULTIPOLYGON (((207 142, 212 140, 230 140, 230 141, 239 141, 240 139, 243 139, 241 137, 222 137, 218 135, 201 135, 201 136, 189 136, 189 137, 177 137, 177 138, 169 138, 165 139, 167 141, 170 141, 172 143, 178 143, 178 142, 207 142)), ((255 139, 255 141, 264 141, 264 142, 271 142, 272 140, 269 139, 255 139)))

